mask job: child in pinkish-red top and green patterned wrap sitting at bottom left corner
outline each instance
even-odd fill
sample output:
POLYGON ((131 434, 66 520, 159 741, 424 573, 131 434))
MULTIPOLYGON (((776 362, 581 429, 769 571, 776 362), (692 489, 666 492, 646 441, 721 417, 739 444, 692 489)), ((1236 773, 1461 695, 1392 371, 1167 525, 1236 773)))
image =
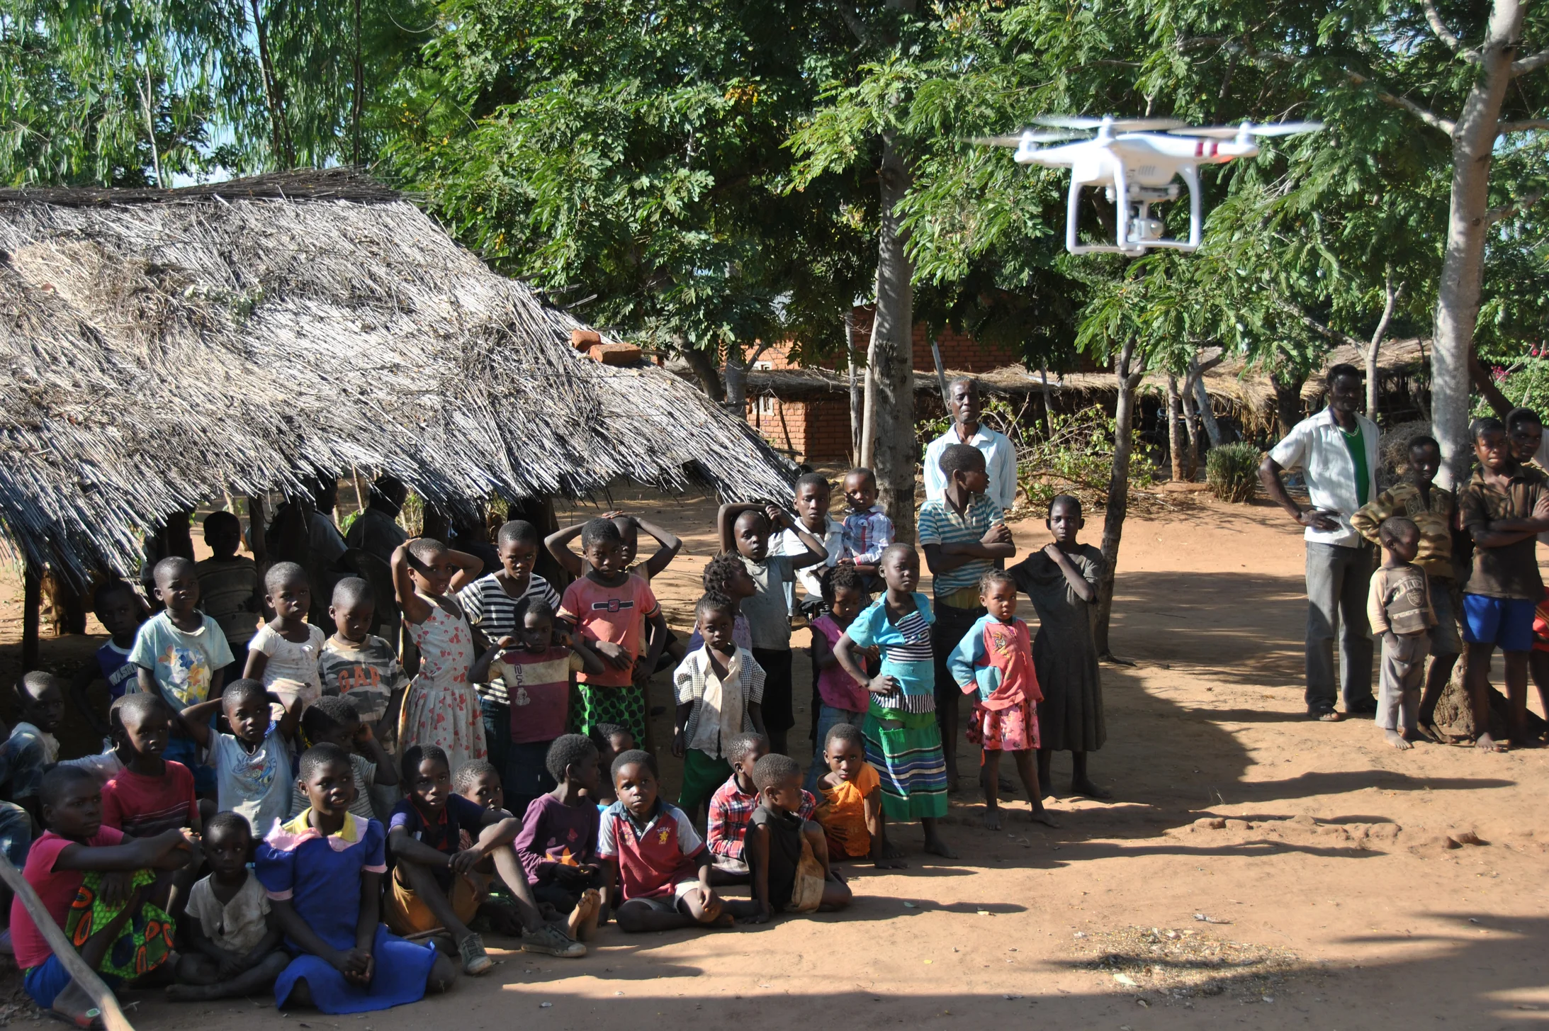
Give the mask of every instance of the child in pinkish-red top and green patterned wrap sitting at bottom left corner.
MULTIPOLYGON (((33 844, 22 876, 87 966, 118 989, 172 958, 172 876, 197 861, 198 839, 183 830, 125 839, 102 824, 102 790, 79 766, 48 771, 39 800, 48 830, 33 844)), ((11 944, 33 1002, 91 1026, 98 1008, 20 898, 11 903, 11 944)))

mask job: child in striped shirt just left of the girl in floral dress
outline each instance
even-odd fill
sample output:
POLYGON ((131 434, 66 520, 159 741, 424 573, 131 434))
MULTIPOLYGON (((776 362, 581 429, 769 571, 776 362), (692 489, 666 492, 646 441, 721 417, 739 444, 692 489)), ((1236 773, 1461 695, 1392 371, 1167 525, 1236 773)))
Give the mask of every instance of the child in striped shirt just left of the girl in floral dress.
POLYGON ((370 632, 376 621, 376 593, 370 582, 347 576, 335 584, 328 618, 338 629, 318 656, 322 695, 347 698, 378 740, 393 737, 409 678, 392 646, 370 632))

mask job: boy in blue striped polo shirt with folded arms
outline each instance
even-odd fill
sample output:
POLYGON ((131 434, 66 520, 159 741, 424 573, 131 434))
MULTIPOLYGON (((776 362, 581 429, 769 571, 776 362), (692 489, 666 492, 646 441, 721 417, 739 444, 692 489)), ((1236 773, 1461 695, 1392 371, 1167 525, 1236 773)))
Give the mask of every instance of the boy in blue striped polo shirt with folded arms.
POLYGON ((985 615, 979 577, 996 562, 1016 554, 1005 514, 984 495, 990 486, 984 454, 973 444, 951 444, 942 452, 946 492, 920 506, 919 540, 931 567, 936 593, 936 721, 942 728, 946 788, 957 788, 957 706, 962 692, 946 667, 963 635, 985 615))

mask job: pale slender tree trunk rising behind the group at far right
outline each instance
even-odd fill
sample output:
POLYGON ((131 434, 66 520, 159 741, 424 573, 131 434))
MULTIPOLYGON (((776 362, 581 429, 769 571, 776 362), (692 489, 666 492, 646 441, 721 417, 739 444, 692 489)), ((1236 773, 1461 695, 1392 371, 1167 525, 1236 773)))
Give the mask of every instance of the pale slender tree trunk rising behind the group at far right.
POLYGON ((1473 457, 1468 446, 1468 356, 1479 319, 1484 238, 1490 229, 1490 156, 1501 102, 1512 82, 1512 57, 1524 6, 1518 0, 1495 0, 1479 46, 1479 74, 1453 127, 1451 206, 1431 351, 1431 432, 1442 446, 1442 486, 1455 491, 1467 480, 1473 457))

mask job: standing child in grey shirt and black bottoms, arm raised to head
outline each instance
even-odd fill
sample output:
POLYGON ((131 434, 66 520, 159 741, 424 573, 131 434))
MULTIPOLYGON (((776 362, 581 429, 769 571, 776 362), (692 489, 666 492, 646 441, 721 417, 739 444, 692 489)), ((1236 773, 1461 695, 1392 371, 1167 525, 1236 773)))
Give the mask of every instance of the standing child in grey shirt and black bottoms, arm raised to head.
POLYGON ((770 748, 784 752, 785 734, 796 724, 790 697, 790 608, 785 604, 785 584, 795 579, 796 570, 826 562, 829 550, 773 505, 722 505, 717 526, 720 550, 740 554, 753 576, 756 591, 742 602, 742 615, 748 618, 753 633, 753 658, 764 667, 764 726, 768 728, 770 748), (807 551, 770 554, 771 528, 795 531, 807 551))

